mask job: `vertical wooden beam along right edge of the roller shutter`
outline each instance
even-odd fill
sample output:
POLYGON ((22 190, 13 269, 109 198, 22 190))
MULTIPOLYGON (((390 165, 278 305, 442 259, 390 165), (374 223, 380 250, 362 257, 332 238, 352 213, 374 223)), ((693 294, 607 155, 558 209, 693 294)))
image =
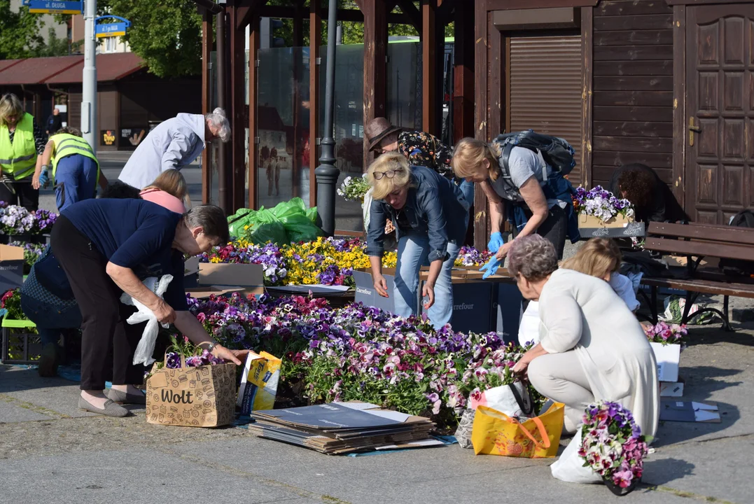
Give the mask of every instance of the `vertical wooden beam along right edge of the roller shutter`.
POLYGON ((593 7, 581 8, 581 185, 590 188, 592 176, 593 7))

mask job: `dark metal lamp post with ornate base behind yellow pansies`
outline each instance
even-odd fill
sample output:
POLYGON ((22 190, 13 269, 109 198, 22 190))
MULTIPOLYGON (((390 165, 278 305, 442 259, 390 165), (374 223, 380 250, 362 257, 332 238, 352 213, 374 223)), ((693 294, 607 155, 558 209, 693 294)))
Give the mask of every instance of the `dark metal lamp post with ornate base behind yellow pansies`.
POLYGON ((340 170, 335 166, 335 140, 333 139, 333 98, 335 96, 335 46, 337 0, 329 0, 327 11, 327 69, 325 79, 325 137, 320 146, 320 166, 314 170, 317 179, 318 224, 326 236, 335 233, 335 194, 340 170))

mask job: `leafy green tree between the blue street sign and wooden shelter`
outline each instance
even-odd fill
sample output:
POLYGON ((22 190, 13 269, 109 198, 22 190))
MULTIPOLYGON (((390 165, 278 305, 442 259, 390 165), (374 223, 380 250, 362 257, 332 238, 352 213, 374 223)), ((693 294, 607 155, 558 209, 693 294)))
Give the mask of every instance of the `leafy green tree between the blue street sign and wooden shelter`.
POLYGON ((103 14, 131 22, 124 39, 159 77, 201 73, 201 16, 192 0, 105 0, 103 14))

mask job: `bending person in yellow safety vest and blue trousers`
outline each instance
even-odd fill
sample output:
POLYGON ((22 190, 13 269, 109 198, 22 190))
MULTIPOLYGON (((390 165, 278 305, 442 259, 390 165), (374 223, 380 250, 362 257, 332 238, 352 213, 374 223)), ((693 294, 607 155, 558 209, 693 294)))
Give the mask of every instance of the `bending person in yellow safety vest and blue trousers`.
POLYGON ((101 188, 107 187, 107 179, 100 173, 100 162, 89 142, 81 138, 81 132, 75 128, 64 127, 50 137, 34 172, 35 189, 47 185, 50 162, 59 211, 77 201, 93 198, 98 182, 101 188))

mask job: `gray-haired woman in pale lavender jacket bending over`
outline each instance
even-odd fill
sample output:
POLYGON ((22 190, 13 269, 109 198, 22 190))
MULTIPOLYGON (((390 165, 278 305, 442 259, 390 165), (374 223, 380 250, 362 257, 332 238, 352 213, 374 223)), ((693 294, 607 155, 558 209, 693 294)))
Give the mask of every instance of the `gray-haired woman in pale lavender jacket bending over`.
POLYGON ((146 188, 165 170, 180 170, 191 164, 216 139, 231 139, 231 127, 222 108, 206 116, 176 115, 158 124, 139 142, 118 179, 137 189, 146 188))

